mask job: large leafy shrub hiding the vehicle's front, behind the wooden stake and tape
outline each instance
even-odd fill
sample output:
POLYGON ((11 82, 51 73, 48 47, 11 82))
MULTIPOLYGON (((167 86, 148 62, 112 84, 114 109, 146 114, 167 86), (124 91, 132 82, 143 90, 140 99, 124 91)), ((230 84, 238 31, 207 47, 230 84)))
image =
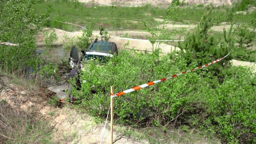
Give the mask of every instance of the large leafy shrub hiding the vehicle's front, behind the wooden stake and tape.
MULTIPOLYGON (((80 76, 82 93, 76 95, 76 99, 81 100, 81 105, 93 115, 106 115, 110 85, 114 85, 115 91, 122 91, 175 74, 179 68, 184 70, 185 67, 184 60, 175 63, 168 56, 160 58, 155 54, 122 51, 102 67, 94 63, 85 66, 85 71, 80 76)), ((148 119, 158 126, 172 121, 183 109, 191 108, 194 100, 199 97, 201 99, 198 102, 204 103, 203 93, 208 93, 203 89, 204 85, 193 84, 198 80, 201 84, 206 83, 199 75, 190 73, 187 76, 116 98, 115 116, 123 122, 151 115, 148 119), (192 91, 202 92, 192 94, 192 91)))

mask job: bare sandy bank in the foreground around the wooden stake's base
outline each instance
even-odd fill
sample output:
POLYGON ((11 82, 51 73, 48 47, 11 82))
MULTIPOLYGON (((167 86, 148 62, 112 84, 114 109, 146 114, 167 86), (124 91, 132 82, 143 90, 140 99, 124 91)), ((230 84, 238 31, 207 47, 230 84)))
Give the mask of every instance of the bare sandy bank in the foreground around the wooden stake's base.
MULTIPOLYGON (((69 108, 54 108, 47 104, 47 100, 54 94, 50 91, 28 85, 14 85, 7 76, 0 75, 0 101, 5 100, 17 110, 25 112, 36 112, 43 116, 53 128, 52 138, 57 143, 82 143, 96 144, 100 142, 103 124, 97 124, 92 117, 84 113, 78 113, 69 108), (47 98, 48 97, 48 98, 47 98)), ((147 141, 136 142, 128 138, 121 137, 120 133, 115 132, 117 125, 114 125, 113 139, 120 144, 144 144, 147 141)), ((103 143, 109 143, 110 126, 104 133, 103 143)))

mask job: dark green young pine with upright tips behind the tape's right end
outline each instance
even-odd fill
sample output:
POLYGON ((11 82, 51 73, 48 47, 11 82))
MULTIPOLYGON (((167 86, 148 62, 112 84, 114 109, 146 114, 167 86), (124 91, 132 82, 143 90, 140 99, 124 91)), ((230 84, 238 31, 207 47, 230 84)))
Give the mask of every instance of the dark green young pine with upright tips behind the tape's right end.
MULTIPOLYGON (((210 60, 213 61, 224 57, 231 49, 236 51, 234 33, 232 30, 233 25, 231 25, 228 32, 224 29, 224 38, 209 34, 209 29, 213 25, 211 13, 212 7, 208 7, 208 11, 202 16, 197 27, 185 36, 185 42, 179 43, 178 47, 181 51, 178 57, 181 59, 185 58, 187 65, 194 62, 196 59, 198 65, 201 66, 209 63, 210 60)), ((229 66, 229 60, 232 60, 232 54, 209 68, 210 71, 214 72, 214 76, 218 77, 219 82, 221 82, 227 74, 226 69, 229 66)))

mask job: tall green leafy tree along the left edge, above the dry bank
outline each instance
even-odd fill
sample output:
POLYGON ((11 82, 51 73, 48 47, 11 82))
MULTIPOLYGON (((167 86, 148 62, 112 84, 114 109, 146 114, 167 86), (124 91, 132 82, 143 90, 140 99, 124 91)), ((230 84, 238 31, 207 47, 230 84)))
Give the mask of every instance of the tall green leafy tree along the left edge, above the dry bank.
POLYGON ((33 1, 1 1, 0 7, 0 41, 19 44, 19 46, 0 45, 0 66, 5 72, 26 73, 26 68, 36 65, 35 34, 36 29, 29 28, 34 12, 33 1), (22 21, 24 20, 24 21, 22 21))

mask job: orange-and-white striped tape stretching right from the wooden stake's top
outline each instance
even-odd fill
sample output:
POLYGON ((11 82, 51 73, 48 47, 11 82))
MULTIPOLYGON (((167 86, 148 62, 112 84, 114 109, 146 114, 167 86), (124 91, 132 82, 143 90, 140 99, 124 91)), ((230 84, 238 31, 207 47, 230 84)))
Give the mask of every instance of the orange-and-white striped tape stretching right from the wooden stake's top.
MULTIPOLYGON (((232 49, 231 49, 231 51, 232 51, 232 49)), ((173 77, 176 77, 176 76, 180 76, 180 75, 182 75, 182 74, 191 72, 191 71, 193 71, 193 70, 196 70, 196 69, 199 69, 199 68, 208 67, 208 66, 210 66, 211 64, 214 64, 214 63, 216 63, 216 62, 218 62, 218 61, 223 60, 224 58, 226 58, 226 57, 231 53, 231 51, 230 51, 225 57, 223 57, 223 58, 221 58, 221 59, 218 59, 218 60, 214 60, 214 61, 212 61, 212 62, 210 62, 210 63, 208 63, 208 64, 205 64, 205 65, 203 65, 203 66, 196 67, 196 68, 193 68, 193 69, 184 71, 184 72, 182 72, 182 73, 179 73, 179 74, 176 74, 176 75, 173 75, 173 76, 165 77, 165 78, 162 78, 162 79, 160 79, 160 80, 156 80, 156 81, 148 82, 148 83, 146 83, 146 84, 141 84, 141 85, 139 85, 139 86, 135 86, 135 87, 133 87, 133 88, 131 88, 131 89, 128 89, 128 90, 125 90, 125 91, 123 91, 123 92, 118 92, 118 93, 116 93, 115 95, 113 95, 112 97, 117 97, 117 96, 123 95, 123 94, 125 94, 125 93, 137 91, 137 90, 139 90, 139 89, 141 89, 141 88, 148 87, 149 85, 153 85, 153 84, 156 84, 156 83, 159 83, 159 82, 163 82, 163 81, 165 81, 165 80, 167 80, 167 79, 170 79, 170 78, 173 78, 173 77)))

